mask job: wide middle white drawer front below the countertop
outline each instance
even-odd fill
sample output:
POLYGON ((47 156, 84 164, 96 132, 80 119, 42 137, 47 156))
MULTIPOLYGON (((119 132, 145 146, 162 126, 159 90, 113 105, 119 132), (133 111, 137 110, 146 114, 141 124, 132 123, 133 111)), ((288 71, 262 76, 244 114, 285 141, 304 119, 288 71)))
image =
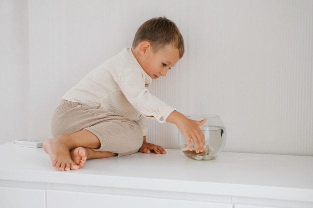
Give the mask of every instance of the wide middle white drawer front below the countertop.
POLYGON ((160 198, 46 191, 46 208, 232 208, 231 204, 160 198))

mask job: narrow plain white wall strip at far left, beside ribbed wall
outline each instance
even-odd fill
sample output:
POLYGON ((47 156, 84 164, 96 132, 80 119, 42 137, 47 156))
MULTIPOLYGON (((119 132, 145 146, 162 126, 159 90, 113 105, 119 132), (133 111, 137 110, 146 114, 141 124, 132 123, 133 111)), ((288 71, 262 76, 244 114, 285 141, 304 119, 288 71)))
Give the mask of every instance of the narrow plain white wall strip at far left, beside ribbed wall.
POLYGON ((0 0, 0 144, 29 138, 27 0, 0 0))

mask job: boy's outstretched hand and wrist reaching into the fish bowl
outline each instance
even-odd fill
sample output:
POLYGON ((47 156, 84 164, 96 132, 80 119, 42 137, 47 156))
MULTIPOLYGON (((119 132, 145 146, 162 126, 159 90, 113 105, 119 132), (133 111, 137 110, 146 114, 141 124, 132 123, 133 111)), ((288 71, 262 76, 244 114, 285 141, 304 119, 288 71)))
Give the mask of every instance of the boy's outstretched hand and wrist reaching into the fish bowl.
POLYGON ((173 111, 167 117, 166 122, 173 123, 177 126, 180 133, 186 138, 190 151, 192 151, 191 139, 194 144, 195 152, 199 153, 203 151, 204 135, 199 126, 205 123, 205 119, 194 121, 188 119, 178 111, 173 111))

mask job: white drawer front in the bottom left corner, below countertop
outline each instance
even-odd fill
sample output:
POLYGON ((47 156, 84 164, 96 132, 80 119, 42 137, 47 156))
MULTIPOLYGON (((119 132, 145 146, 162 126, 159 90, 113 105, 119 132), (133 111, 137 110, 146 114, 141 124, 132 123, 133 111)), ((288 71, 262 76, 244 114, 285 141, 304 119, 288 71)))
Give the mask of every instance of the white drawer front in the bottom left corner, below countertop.
POLYGON ((45 208, 45 191, 0 187, 0 208, 45 208))

